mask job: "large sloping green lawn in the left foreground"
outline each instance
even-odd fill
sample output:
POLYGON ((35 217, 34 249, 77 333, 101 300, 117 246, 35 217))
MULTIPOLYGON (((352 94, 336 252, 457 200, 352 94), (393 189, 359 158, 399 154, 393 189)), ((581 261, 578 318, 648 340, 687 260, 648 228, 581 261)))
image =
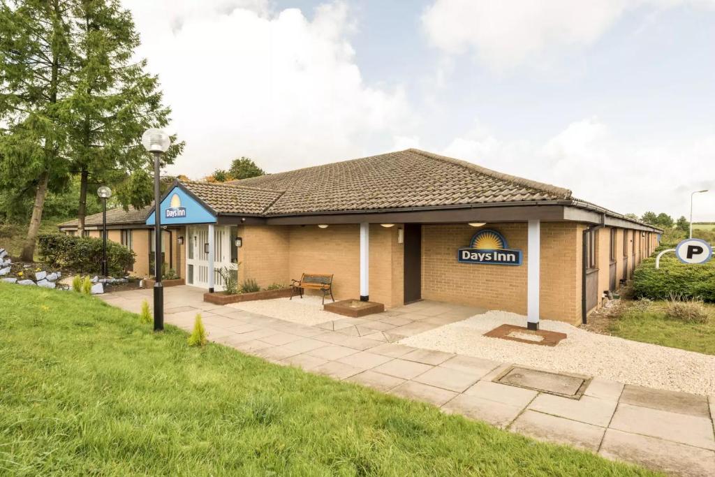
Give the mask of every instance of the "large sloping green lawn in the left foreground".
POLYGON ((0 283, 0 474, 651 475, 0 283))

